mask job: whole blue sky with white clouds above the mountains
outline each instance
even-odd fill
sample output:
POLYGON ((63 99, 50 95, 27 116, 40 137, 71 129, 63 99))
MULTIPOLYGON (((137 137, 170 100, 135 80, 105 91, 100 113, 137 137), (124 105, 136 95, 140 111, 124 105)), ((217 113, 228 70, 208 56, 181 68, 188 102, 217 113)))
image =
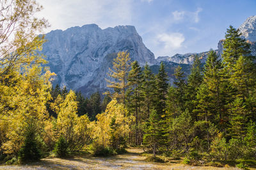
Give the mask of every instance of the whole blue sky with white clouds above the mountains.
POLYGON ((135 26, 157 58, 217 49, 228 26, 256 15, 255 0, 38 0, 49 21, 45 33, 97 24, 135 26))

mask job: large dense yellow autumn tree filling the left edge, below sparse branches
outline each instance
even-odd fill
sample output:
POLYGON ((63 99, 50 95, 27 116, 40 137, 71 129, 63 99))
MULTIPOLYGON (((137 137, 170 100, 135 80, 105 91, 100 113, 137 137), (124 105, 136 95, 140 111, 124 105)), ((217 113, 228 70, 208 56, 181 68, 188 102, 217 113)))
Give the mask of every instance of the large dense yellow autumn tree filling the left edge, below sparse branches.
POLYGON ((42 62, 44 60, 38 58, 31 64, 16 65, 15 70, 1 76, 0 127, 4 129, 0 131, 5 134, 1 135, 0 144, 1 151, 6 154, 18 153, 28 128, 33 128, 37 135, 43 133, 42 127, 48 116, 45 104, 51 97, 49 80, 54 74, 43 73, 42 62))

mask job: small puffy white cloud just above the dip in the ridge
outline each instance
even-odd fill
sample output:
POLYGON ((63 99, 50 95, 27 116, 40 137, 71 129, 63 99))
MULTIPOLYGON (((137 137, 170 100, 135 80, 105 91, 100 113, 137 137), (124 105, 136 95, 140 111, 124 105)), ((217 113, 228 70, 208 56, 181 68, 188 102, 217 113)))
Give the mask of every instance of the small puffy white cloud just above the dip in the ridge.
POLYGON ((181 33, 164 33, 157 35, 157 40, 163 43, 164 49, 173 50, 182 47, 182 42, 184 42, 185 38, 181 33))

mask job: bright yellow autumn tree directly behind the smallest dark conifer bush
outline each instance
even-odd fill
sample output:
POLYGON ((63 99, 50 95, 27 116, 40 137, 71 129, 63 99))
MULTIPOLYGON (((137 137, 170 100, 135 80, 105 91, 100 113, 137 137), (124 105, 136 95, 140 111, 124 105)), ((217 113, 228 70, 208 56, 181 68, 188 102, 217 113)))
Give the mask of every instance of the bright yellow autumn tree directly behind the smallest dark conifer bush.
MULTIPOLYGON (((70 90, 60 104, 56 127, 58 137, 64 137, 71 151, 79 151, 90 143, 90 121, 88 116, 77 116, 76 94, 70 90)), ((57 138, 58 138, 57 137, 57 138)))

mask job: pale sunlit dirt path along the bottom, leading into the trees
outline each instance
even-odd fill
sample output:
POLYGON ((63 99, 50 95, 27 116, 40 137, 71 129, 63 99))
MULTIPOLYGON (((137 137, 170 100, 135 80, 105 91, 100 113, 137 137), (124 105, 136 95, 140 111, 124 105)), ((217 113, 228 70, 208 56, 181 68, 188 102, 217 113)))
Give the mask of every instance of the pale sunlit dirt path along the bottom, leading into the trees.
MULTIPOLYGON (((124 155, 116 157, 74 157, 68 159, 44 158, 40 162, 24 166, 0 166, 0 169, 223 169, 216 167, 194 167, 183 164, 157 164, 145 162, 141 157, 143 152, 140 148, 127 150, 124 155)), ((236 168, 225 168, 236 169, 236 168)))

